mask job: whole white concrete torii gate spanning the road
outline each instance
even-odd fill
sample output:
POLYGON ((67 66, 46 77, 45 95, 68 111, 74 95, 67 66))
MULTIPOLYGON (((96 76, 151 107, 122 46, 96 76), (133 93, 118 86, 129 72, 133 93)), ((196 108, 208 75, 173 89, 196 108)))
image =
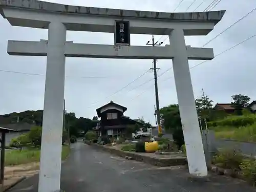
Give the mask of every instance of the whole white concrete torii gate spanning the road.
POLYGON ((66 57, 173 59, 189 173, 207 175, 188 59, 210 60, 214 53, 212 49, 186 46, 184 36, 207 35, 225 11, 164 13, 0 0, 0 13, 12 26, 48 29, 48 40, 8 41, 10 55, 47 56, 39 192, 60 189, 66 57), (67 30, 114 33, 115 20, 129 22, 132 34, 168 35, 170 45, 115 46, 66 41, 67 30))

